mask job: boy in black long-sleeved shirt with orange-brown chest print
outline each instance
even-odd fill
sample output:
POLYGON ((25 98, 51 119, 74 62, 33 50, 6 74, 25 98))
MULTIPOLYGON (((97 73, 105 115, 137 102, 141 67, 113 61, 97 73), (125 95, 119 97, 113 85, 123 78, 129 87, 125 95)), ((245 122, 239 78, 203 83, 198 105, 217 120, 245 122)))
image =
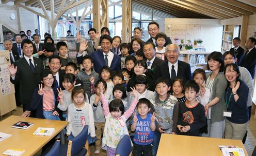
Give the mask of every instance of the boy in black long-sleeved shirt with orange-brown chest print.
POLYGON ((179 105, 177 134, 199 136, 200 129, 206 125, 204 107, 197 100, 198 84, 191 80, 185 85, 187 101, 179 105))

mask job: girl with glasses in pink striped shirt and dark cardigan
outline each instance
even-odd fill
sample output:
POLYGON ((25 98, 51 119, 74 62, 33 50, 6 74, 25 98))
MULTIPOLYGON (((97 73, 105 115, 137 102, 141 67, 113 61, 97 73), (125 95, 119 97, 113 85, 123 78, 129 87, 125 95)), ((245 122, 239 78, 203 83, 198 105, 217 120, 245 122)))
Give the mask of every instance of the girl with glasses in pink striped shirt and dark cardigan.
POLYGON ((36 110, 36 118, 60 120, 61 111, 57 108, 57 90, 53 87, 53 74, 50 70, 44 70, 41 83, 35 89, 31 101, 31 109, 36 110))

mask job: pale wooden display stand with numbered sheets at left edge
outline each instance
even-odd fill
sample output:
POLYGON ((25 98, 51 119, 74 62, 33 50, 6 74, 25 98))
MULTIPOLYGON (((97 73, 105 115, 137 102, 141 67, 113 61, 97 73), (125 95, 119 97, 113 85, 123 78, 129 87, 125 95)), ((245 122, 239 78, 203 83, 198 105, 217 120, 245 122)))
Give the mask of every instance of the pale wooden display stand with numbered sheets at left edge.
POLYGON ((10 64, 9 51, 0 51, 0 116, 13 109, 16 109, 14 85, 10 82, 10 73, 8 70, 10 64))

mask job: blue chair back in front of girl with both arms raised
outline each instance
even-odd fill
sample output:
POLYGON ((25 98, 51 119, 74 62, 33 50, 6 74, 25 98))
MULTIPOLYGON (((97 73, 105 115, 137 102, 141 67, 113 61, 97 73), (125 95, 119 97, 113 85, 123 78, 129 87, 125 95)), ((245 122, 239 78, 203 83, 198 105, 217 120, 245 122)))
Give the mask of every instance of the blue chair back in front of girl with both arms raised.
POLYGON ((132 144, 129 135, 124 135, 117 145, 116 156, 132 155, 132 144))

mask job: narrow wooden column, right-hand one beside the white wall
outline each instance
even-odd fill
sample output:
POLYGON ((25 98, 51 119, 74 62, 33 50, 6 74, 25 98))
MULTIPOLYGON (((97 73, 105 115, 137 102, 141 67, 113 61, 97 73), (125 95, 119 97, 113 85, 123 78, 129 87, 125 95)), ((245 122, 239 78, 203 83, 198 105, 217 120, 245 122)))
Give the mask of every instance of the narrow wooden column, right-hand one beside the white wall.
POLYGON ((122 0, 122 42, 131 42, 132 36, 132 0, 122 0))

